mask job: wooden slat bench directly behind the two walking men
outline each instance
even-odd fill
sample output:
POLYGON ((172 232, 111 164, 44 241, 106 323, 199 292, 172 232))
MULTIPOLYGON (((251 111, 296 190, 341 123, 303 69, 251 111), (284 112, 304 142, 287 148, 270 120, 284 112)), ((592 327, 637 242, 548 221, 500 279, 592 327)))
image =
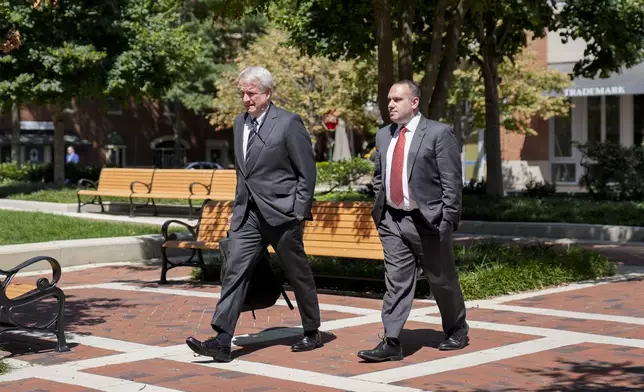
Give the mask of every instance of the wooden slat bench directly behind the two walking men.
MULTIPOLYGON (((180 221, 168 221, 162 234, 166 239, 161 246, 163 265, 161 283, 166 282, 169 269, 179 266, 203 267, 203 250, 218 250, 219 240, 226 237, 228 216, 232 202, 206 201, 199 222, 195 226, 180 221), (169 227, 176 223, 188 227, 192 240, 178 240, 169 227), (171 262, 166 250, 190 249, 189 258, 171 262), (194 260, 197 256, 197 260, 194 260)), ((304 249, 307 255, 335 256, 360 259, 383 259, 383 250, 378 231, 371 219, 371 203, 368 202, 316 202, 313 205, 313 221, 304 226, 304 249)), ((269 252, 274 252, 269 247, 269 252)))

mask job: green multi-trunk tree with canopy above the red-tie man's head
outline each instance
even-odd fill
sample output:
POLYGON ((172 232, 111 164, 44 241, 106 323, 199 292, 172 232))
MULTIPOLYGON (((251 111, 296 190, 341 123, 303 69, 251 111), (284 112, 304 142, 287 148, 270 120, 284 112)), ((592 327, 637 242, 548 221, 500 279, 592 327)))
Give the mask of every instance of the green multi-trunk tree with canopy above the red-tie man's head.
POLYGON ((444 112, 456 68, 458 42, 470 0, 210 0, 222 17, 265 12, 291 34, 290 43, 309 55, 331 59, 370 56, 377 48, 377 102, 389 121, 387 94, 398 78, 418 74, 421 110, 444 112), (394 50, 394 48, 396 50, 394 50), (396 61, 397 59, 397 61, 396 61))

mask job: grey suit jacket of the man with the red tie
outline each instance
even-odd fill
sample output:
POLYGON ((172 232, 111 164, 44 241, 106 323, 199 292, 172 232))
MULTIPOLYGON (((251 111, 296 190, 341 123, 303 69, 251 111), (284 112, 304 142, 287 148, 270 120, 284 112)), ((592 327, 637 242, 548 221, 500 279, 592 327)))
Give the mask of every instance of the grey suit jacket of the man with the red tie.
MULTIPOLYGON (((376 135, 373 188, 376 201, 371 215, 380 225, 387 203, 387 150, 397 124, 381 128, 376 135)), ((428 223, 437 230, 442 220, 458 226, 463 191, 460 143, 449 125, 421 115, 407 158, 409 192, 428 223)))

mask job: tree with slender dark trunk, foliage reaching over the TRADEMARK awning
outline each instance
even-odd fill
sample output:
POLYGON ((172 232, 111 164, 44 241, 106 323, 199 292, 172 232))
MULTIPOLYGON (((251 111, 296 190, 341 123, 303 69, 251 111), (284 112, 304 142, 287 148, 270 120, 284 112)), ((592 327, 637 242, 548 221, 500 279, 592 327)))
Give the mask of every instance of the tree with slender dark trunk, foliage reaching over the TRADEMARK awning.
POLYGON ((588 44, 584 58, 575 64, 575 74, 607 76, 623 66, 644 59, 644 2, 642 0, 575 0, 557 9, 554 0, 481 0, 465 23, 467 39, 474 49, 470 59, 479 63, 485 84, 486 193, 503 195, 501 168, 501 109, 499 66, 513 59, 527 45, 527 36, 542 38, 546 29, 559 30, 563 40, 582 38, 588 44))

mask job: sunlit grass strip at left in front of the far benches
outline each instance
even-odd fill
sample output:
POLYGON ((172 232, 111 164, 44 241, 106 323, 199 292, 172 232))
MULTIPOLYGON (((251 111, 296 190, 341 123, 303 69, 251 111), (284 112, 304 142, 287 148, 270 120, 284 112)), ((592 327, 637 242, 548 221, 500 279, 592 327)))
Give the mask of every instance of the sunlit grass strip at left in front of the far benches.
POLYGON ((160 234, 157 225, 104 222, 41 212, 0 210, 0 245, 160 234))

